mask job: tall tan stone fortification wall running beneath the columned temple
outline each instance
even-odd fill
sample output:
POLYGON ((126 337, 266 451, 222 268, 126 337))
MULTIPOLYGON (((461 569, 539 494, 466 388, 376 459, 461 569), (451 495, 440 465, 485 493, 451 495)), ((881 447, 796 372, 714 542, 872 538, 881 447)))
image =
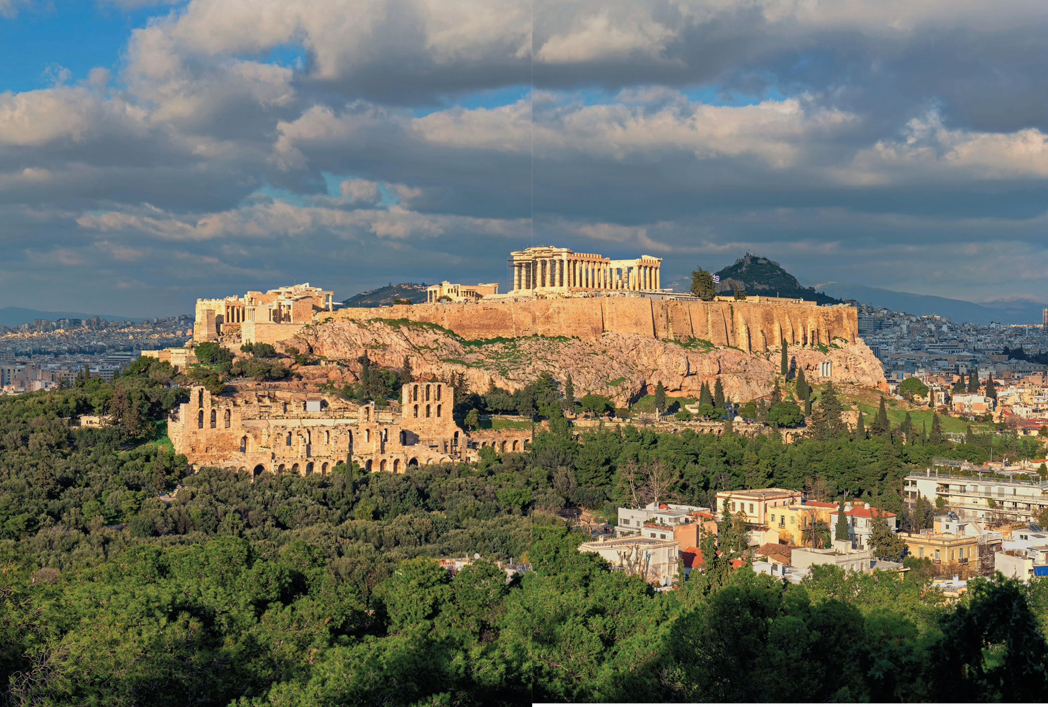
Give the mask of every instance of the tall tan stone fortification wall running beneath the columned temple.
MULTIPOLYGON (((324 313, 324 317, 330 317, 324 313)), ((592 297, 526 302, 398 304, 346 308, 336 319, 410 319, 438 324, 464 339, 543 336, 601 338, 605 331, 658 339, 703 339, 716 346, 760 351, 783 339, 795 345, 854 343, 854 307, 779 302, 683 302, 640 297, 592 297)), ((246 331, 245 331, 246 335, 246 331)), ((286 336, 284 338, 287 338, 286 336)))

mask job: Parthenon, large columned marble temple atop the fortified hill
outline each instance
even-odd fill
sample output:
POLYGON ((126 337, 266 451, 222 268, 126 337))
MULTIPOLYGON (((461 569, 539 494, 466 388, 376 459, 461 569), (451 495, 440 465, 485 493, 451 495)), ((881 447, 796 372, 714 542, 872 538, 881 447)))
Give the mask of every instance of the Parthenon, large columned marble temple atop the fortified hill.
POLYGON ((612 260, 595 253, 574 253, 568 248, 534 245, 509 254, 514 290, 533 291, 661 290, 662 258, 642 255, 635 260, 612 260))

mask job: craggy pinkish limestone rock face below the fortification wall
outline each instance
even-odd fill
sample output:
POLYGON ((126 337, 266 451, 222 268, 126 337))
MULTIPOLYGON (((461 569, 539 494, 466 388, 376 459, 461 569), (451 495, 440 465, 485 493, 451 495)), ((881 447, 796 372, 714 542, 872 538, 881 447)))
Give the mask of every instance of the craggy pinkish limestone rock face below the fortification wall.
MULTIPOLYGON (((542 371, 562 383, 570 373, 576 394, 607 395, 618 405, 651 392, 658 381, 671 393, 698 395, 703 383, 712 387, 718 377, 727 398, 752 400, 771 392, 781 361, 778 348, 747 354, 611 331, 595 341, 539 336, 466 341, 438 326, 378 319, 314 323, 283 344, 351 362, 350 368, 365 349, 373 362, 390 368, 399 368, 407 356, 417 378, 447 380, 461 372, 471 390, 481 393, 493 384, 519 389, 542 371)), ((860 340, 837 340, 827 352, 790 347, 788 354, 791 367, 804 368, 813 383, 821 380, 820 362, 831 361, 834 382, 887 388, 879 361, 860 340)), ((330 376, 332 382, 339 378, 330 376)))

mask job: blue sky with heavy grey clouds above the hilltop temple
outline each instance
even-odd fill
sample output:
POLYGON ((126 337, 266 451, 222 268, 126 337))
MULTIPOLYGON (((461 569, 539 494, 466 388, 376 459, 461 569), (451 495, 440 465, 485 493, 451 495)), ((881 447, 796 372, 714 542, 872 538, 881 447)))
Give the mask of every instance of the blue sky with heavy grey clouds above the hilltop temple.
POLYGON ((1048 301, 1046 59, 1043 0, 0 0, 0 306, 533 244, 1048 301))

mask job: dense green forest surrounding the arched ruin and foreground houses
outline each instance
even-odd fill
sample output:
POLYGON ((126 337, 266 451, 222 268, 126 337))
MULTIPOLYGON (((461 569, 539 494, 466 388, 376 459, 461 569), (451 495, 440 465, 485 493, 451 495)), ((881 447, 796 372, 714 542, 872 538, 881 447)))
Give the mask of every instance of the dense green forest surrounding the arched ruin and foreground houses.
POLYGON ((253 481, 192 473, 174 454, 154 421, 184 394, 178 383, 140 361, 112 383, 0 399, 9 703, 1018 701, 1046 687, 1044 580, 975 581, 955 605, 917 576, 827 569, 784 586, 733 571, 746 556, 729 542, 717 556, 707 537, 706 571, 658 593, 578 554, 587 536, 553 515, 575 505, 613 521, 635 501, 629 478, 655 467, 667 497, 700 506, 773 485, 903 512, 902 475, 936 455, 986 456, 988 436, 955 446, 832 420, 793 445, 580 432, 540 380, 525 398, 549 424, 526 454, 253 481), (84 413, 119 424, 69 427, 84 413), (483 559, 454 576, 433 561, 474 553, 483 559), (507 583, 495 562, 510 558, 532 571, 507 583))

